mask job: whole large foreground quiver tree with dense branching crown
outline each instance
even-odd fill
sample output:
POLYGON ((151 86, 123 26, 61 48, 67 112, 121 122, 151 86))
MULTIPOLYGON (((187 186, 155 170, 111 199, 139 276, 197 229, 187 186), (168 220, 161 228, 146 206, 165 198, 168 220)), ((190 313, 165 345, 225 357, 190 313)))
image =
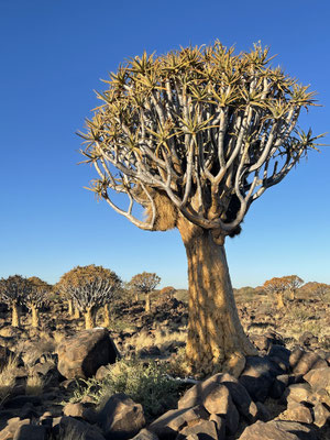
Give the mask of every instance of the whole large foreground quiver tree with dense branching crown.
POLYGON ((100 198, 141 229, 178 228, 188 258, 186 354, 204 373, 223 364, 238 370, 255 353, 239 320, 224 240, 319 138, 297 129, 314 94, 272 68, 267 54, 255 45, 234 55, 218 41, 144 53, 110 75, 80 133, 100 198), (134 216, 134 202, 146 219, 134 216))

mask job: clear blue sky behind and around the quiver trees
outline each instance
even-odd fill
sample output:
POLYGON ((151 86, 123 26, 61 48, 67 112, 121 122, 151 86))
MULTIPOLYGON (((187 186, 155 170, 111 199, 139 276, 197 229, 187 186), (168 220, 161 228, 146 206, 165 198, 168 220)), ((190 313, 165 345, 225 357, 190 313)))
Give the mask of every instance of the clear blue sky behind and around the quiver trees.
MULTIPOLYGON (((330 4, 326 0, 0 0, 0 277, 51 283, 75 265, 101 264, 129 280, 156 272, 187 286, 179 234, 145 232, 84 189, 77 165, 84 119, 100 78, 129 56, 219 38, 238 51, 271 46, 323 105, 300 120, 330 131, 330 4)), ((324 143, 330 143, 329 136, 324 143)), ((297 274, 330 284, 330 148, 310 153, 251 208, 228 240, 233 285, 297 274)))

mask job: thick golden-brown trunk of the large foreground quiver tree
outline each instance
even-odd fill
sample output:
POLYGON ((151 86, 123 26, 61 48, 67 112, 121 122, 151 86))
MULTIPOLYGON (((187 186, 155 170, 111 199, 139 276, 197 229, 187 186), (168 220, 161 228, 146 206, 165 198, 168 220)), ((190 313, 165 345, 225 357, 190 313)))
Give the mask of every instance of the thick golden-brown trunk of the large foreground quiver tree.
POLYGON ((241 326, 223 245, 211 231, 178 222, 187 258, 189 323, 186 346, 193 372, 228 371, 238 376, 245 355, 257 354, 241 326))

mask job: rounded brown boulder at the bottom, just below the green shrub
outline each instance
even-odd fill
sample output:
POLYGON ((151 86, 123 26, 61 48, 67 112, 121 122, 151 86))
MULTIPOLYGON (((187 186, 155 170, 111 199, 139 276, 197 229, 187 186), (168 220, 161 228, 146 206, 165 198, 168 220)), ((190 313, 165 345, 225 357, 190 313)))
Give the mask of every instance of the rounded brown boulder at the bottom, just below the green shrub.
POLYGON ((131 439, 145 425, 142 405, 123 393, 113 394, 100 411, 98 424, 111 440, 131 439))

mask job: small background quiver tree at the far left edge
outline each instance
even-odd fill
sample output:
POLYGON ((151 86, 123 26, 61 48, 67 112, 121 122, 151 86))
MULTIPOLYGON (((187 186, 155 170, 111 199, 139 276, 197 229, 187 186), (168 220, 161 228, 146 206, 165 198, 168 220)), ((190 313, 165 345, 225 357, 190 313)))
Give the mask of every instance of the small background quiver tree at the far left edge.
POLYGON ((28 278, 21 275, 9 276, 0 280, 1 300, 6 302, 12 311, 11 324, 21 326, 21 305, 24 298, 30 295, 32 285, 28 278))

